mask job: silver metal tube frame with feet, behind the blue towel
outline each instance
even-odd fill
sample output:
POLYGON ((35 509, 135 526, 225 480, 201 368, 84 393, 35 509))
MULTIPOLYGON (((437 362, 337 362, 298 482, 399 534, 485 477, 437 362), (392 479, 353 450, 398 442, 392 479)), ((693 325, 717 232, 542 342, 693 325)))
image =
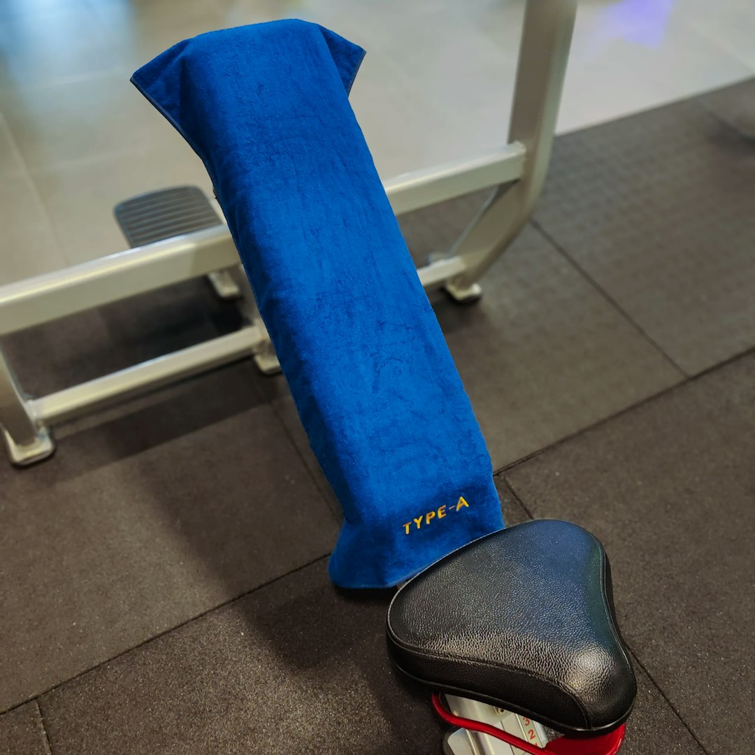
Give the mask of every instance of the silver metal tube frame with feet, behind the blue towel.
MULTIPOLYGON (((576 0, 528 0, 506 146, 384 182, 396 215, 492 189, 448 255, 418 270, 427 291, 478 297, 480 276, 532 213, 550 160, 575 14, 576 0)), ((0 430, 11 462, 32 464, 51 455, 48 426, 55 422, 244 356, 253 356, 267 374, 279 365, 225 226, 0 287, 2 336, 199 276, 208 276, 219 295, 239 297, 245 327, 39 399, 24 395, 0 350, 0 430)))

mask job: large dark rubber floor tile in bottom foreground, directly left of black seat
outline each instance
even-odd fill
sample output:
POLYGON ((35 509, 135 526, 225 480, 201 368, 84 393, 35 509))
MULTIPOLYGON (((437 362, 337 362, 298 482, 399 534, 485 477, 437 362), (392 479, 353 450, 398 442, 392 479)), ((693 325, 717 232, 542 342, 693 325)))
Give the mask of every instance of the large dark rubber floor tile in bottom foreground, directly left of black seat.
POLYGON ((385 647, 392 591, 345 593, 325 559, 42 698, 55 755, 436 755, 424 690, 385 647))

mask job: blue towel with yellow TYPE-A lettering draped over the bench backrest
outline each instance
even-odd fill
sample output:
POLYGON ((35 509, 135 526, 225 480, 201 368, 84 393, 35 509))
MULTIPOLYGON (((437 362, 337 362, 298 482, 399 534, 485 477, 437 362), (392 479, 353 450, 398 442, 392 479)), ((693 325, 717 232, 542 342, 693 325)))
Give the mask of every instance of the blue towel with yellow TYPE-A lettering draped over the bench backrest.
POLYGON ((276 21, 180 42, 131 80, 210 174, 344 509, 331 579, 388 587, 503 521, 485 442, 349 104, 363 56, 321 26, 276 21))

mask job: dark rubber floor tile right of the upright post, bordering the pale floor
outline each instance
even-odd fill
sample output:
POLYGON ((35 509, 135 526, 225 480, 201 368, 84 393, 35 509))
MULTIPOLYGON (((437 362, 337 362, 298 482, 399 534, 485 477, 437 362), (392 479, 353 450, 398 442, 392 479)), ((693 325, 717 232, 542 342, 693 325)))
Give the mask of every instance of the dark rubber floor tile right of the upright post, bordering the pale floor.
POLYGON ((696 374, 755 345, 753 184, 755 142, 696 98, 557 139, 535 218, 696 374))

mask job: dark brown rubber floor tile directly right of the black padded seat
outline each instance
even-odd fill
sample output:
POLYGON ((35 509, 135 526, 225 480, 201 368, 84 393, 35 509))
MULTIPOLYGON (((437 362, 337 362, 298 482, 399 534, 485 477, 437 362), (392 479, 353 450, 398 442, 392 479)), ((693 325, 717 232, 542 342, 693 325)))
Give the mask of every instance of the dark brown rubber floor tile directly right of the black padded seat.
POLYGON ((755 356, 542 455, 507 481, 606 544, 618 617, 709 753, 755 730, 755 356))

